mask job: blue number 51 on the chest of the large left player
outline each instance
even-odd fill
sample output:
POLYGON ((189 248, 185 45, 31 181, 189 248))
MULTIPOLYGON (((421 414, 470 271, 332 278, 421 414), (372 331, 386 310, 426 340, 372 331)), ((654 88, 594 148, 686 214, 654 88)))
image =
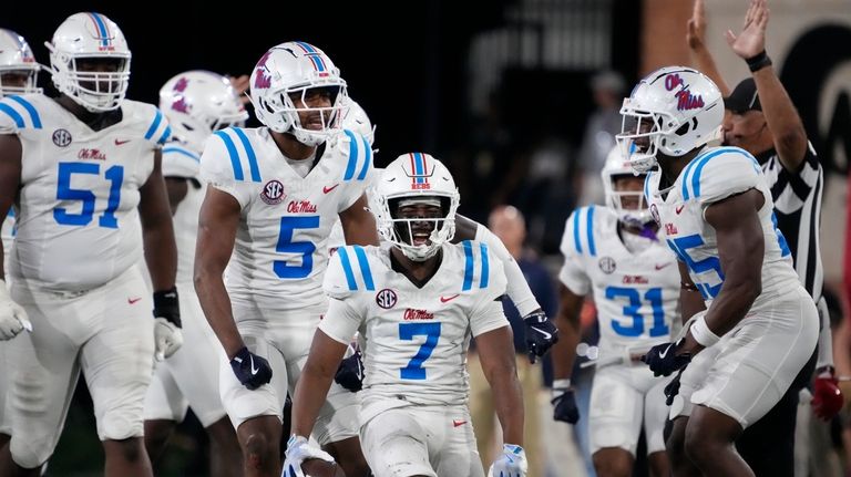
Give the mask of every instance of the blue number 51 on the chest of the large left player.
MULTIPOLYGON (((80 200, 83 203, 82 210, 79 214, 69 212, 64 207, 53 209, 53 219, 57 224, 63 226, 86 226, 94 216, 94 206, 98 197, 89 189, 71 188, 71 177, 74 174, 86 174, 91 176, 101 175, 100 164, 90 163, 59 163, 59 177, 57 180, 57 200, 80 200)), ((115 218, 115 210, 121 204, 121 185, 124 182, 124 166, 114 165, 106 169, 104 177, 110 184, 110 196, 106 199, 106 209, 98 218, 98 225, 109 229, 119 228, 119 220, 115 218)))

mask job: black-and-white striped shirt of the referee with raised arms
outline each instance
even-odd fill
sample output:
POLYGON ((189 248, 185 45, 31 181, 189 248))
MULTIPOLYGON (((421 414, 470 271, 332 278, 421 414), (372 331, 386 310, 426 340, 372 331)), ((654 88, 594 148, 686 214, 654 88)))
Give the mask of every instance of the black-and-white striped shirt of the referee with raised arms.
POLYGON ((794 270, 803 287, 818 302, 824 281, 819 249, 823 185, 819 158, 812 144, 808 144, 798 172, 787 170, 775 149, 760 154, 757 159, 771 188, 777 226, 792 252, 794 270))

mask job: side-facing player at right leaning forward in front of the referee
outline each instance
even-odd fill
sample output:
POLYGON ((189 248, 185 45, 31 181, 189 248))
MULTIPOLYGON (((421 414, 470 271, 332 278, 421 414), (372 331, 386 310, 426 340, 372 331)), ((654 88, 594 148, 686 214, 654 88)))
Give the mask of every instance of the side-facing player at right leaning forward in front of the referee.
POLYGON ((724 117, 711 80, 684 66, 657 70, 621 112, 618 142, 635 146, 633 167, 659 166, 647 173, 645 195, 679 258, 689 318, 683 338, 644 356, 655 374, 679 372, 668 388, 673 395, 679 386, 667 442, 674 474, 753 475, 734 442, 809 360, 816 305, 792 268, 757 160, 738 147, 708 145, 724 117))

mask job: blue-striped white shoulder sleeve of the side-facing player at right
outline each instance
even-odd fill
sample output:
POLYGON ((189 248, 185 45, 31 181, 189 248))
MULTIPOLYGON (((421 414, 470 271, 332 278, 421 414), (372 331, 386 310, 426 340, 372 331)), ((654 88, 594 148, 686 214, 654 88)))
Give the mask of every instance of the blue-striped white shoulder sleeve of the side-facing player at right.
POLYGON ((705 153, 686 166, 683 197, 697 199, 704 210, 730 196, 758 187, 759 163, 738 147, 720 147, 705 153))

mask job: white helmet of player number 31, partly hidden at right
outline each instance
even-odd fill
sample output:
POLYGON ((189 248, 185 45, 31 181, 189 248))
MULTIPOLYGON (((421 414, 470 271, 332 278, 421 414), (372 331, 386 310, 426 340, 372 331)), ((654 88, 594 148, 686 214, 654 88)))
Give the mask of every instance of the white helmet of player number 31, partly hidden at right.
POLYGON ((617 217, 622 222, 643 227, 653 221, 653 216, 650 215, 650 209, 648 208, 647 199, 644 197, 643 190, 618 190, 615 187, 616 179, 621 177, 629 176, 644 179, 647 176, 646 173, 636 174, 633 169, 633 165, 621 152, 621 147, 616 146, 612 148, 599 175, 603 177, 603 190, 606 195, 606 205, 617 212, 617 217), (633 200, 630 201, 637 204, 638 207, 624 207, 624 198, 632 198, 633 200))

